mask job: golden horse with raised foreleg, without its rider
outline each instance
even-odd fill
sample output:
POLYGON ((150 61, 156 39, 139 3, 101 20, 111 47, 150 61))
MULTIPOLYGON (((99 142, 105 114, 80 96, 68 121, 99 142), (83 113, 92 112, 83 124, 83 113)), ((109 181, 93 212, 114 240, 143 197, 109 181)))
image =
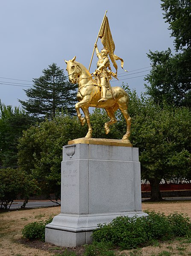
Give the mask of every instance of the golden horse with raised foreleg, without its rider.
POLYGON ((88 133, 86 134, 86 138, 91 138, 92 128, 90 123, 90 116, 89 116, 89 107, 95 108, 102 108, 105 109, 107 115, 109 116, 110 121, 105 123, 105 131, 106 134, 109 133, 109 126, 111 124, 115 124, 117 122, 115 118, 115 111, 120 109, 122 112, 125 120, 126 120, 126 134, 123 135, 122 140, 124 142, 130 143, 129 136, 130 136, 130 127, 131 127, 131 118, 127 111, 129 105, 129 95, 126 93, 125 90, 121 87, 112 87, 113 95, 110 90, 107 91, 106 102, 99 102, 98 100, 101 97, 101 90, 100 86, 97 85, 96 81, 91 77, 90 72, 79 62, 76 62, 76 56, 73 59, 66 61, 68 71, 69 81, 71 83, 78 84, 78 93, 77 93, 77 100, 75 108, 77 112, 77 116, 81 125, 85 124, 85 121, 88 124, 88 133), (114 96, 114 97, 113 97, 114 96), (80 110, 82 109, 85 118, 82 117, 80 110))

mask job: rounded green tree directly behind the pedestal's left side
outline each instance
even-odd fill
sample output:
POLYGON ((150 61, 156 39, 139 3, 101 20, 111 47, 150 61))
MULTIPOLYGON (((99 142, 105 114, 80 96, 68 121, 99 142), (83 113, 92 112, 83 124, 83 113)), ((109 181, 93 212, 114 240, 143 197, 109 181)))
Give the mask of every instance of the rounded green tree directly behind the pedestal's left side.
POLYGON ((38 180, 47 198, 60 198, 62 147, 85 132, 77 117, 62 113, 30 127, 19 139, 18 165, 38 180))

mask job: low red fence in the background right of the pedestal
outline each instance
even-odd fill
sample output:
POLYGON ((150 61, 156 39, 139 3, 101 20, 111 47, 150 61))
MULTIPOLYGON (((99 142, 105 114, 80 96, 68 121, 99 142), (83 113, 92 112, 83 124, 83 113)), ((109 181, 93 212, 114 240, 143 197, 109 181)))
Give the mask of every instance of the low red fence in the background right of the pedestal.
MULTIPOLYGON (((191 183, 186 184, 160 184, 160 191, 191 190, 191 183)), ((141 184, 141 191, 150 191, 150 184, 141 184)))

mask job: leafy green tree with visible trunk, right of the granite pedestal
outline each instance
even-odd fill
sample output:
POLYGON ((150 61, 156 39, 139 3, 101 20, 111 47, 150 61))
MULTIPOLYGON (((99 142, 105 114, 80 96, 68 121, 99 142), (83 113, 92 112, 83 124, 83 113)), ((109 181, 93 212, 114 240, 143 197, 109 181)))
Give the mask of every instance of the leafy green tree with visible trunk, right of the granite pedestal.
POLYGON ((129 112, 130 140, 139 148, 141 177, 150 182, 151 200, 162 200, 160 181, 173 176, 185 178, 191 171, 191 111, 165 104, 162 108, 150 98, 138 99, 134 93, 129 112))

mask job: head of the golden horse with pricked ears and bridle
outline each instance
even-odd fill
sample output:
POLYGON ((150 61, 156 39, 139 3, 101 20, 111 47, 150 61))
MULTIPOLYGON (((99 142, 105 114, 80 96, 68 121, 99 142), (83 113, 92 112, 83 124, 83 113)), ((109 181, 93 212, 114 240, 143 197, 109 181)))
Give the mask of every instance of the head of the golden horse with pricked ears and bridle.
POLYGON ((73 57, 73 59, 65 60, 67 64, 66 70, 68 71, 68 78, 71 83, 76 83, 77 78, 79 77, 81 71, 79 69, 79 66, 75 62, 76 56, 73 57))

